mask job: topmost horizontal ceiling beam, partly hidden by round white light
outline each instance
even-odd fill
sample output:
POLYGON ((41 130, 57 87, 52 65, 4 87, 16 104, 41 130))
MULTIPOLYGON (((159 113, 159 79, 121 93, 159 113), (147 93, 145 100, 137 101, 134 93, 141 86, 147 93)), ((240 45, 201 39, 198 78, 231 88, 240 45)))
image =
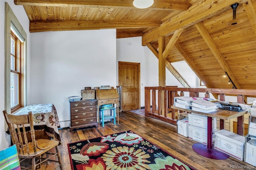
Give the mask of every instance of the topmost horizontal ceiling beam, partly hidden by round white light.
MULTIPOLYGON (((30 6, 80 6, 96 8, 135 8, 133 0, 14 0, 16 5, 30 6)), ((152 10, 188 10, 189 2, 180 0, 154 0, 148 9, 152 10)))

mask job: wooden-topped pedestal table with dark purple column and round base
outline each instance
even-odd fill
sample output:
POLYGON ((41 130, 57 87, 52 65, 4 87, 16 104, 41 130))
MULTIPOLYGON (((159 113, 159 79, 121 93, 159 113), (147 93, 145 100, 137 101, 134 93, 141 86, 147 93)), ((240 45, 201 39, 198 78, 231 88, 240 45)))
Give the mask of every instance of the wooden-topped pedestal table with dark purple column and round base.
MULTIPOLYGON (((247 113, 247 111, 241 111, 241 112, 235 112, 235 111, 226 111, 222 109, 217 109, 215 112, 212 113, 203 113, 203 112, 198 112, 198 111, 192 111, 189 109, 183 109, 180 107, 176 106, 171 106, 172 109, 177 109, 181 111, 186 111, 189 113, 196 113, 198 115, 204 115, 207 116, 207 146, 205 144, 201 143, 196 143, 193 144, 192 149, 202 155, 205 156, 206 158, 212 158, 212 159, 218 159, 218 160, 224 160, 227 159, 229 156, 224 154, 223 152, 220 152, 218 150, 215 150, 212 148, 212 117, 222 119, 222 120, 230 120, 236 117, 241 117, 238 119, 239 124, 244 124, 244 115, 247 113)), ((220 127, 220 129, 223 129, 224 127, 220 127)), ((238 127, 238 128, 243 128, 243 127, 238 127)), ((243 130, 238 130, 238 132, 243 132, 243 130)), ((240 134, 244 135, 244 134, 240 134)))

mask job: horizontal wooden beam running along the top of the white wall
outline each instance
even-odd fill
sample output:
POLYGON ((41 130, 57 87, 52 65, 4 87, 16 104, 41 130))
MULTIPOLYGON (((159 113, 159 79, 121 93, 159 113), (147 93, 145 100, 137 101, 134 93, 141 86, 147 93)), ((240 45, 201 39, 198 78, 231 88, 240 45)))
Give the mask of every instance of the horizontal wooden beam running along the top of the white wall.
POLYGON ((111 28, 146 28, 160 26, 159 20, 94 20, 94 21, 35 21, 30 32, 62 30, 98 30, 111 28))

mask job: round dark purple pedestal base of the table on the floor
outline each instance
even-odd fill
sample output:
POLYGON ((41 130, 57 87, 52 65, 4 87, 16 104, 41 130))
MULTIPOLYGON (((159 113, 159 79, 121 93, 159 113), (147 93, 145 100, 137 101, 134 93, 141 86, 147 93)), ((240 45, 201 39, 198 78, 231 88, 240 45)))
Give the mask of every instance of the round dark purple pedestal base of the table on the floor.
POLYGON ((224 154, 218 150, 215 150, 215 149, 210 149, 210 148, 207 148, 207 145, 204 145, 204 144, 201 144, 201 143, 195 143, 192 145, 192 149, 206 157, 206 158, 211 158, 211 159, 218 159, 218 160, 224 160, 224 159, 227 159, 229 158, 229 156, 227 154, 224 154))

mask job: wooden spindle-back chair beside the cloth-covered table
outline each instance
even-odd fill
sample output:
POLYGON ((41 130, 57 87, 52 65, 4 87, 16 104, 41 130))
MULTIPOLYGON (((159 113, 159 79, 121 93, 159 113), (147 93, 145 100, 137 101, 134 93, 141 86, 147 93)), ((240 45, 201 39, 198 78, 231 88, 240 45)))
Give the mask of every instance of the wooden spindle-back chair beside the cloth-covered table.
POLYGON ((4 118, 6 120, 6 123, 8 125, 8 129, 11 134, 12 142, 17 146, 20 163, 26 159, 29 159, 29 158, 32 159, 32 165, 30 165, 29 167, 20 166, 21 168, 36 170, 36 167, 39 166, 40 168, 43 162, 54 161, 59 163, 55 168, 60 166, 60 169, 63 170, 62 159, 61 159, 60 150, 58 147, 59 142, 56 140, 48 140, 48 139, 36 140, 35 139, 32 112, 28 112, 28 115, 11 115, 11 114, 8 114, 6 110, 4 110, 3 113, 4 113, 4 118), (24 126, 26 124, 30 125, 32 142, 28 142, 28 138, 27 138, 28 130, 26 131, 24 126), (54 147, 56 148, 56 153, 49 152, 49 150, 51 150, 54 147), (42 158, 42 154, 44 153, 50 154, 51 156, 47 155, 46 158, 42 158), (56 155, 58 156, 58 160, 50 159, 56 155))

